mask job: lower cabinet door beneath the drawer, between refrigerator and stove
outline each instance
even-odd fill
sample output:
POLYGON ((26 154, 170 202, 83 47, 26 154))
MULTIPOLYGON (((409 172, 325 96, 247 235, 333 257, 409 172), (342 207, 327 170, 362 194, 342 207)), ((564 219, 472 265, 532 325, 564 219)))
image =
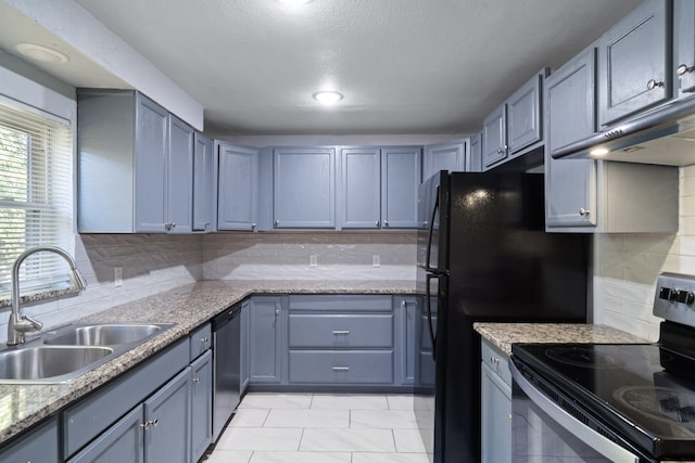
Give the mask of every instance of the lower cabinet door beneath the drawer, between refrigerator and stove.
POLYGON ((481 369, 482 462, 511 462, 511 387, 486 364, 481 369))

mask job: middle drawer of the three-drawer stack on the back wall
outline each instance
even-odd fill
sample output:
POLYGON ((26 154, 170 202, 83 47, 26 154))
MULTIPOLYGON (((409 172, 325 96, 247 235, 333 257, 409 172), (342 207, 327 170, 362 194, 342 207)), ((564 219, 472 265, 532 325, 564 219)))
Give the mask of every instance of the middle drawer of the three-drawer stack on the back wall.
POLYGON ((291 313, 290 348, 393 346, 392 314, 291 313))

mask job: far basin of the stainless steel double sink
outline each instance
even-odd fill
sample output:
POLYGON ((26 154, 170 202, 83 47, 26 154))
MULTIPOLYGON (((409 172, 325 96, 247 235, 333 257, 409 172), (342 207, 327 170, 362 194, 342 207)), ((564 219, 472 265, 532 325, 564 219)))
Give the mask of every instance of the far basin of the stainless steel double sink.
MULTIPOLYGON (((43 343, 63 346, 115 346, 148 339, 162 330, 159 324, 96 324, 72 326, 43 343)), ((164 326, 165 327, 165 326, 164 326)))

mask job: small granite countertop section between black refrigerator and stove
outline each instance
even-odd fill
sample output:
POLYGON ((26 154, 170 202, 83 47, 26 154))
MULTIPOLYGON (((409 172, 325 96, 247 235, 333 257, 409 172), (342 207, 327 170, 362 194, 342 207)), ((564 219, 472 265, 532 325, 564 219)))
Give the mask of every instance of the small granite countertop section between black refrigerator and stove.
POLYGON ((515 343, 649 343, 615 327, 581 323, 473 323, 473 329, 508 356, 515 343))

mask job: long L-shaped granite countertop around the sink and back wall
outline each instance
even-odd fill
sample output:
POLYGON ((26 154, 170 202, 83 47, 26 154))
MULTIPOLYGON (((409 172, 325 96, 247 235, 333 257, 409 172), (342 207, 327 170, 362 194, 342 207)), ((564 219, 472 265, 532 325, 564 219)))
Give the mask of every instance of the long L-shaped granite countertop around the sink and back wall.
POLYGON ((70 383, 0 385, 0 445, 252 294, 414 293, 415 284, 408 281, 203 281, 75 320, 75 323, 152 322, 175 326, 70 383))

